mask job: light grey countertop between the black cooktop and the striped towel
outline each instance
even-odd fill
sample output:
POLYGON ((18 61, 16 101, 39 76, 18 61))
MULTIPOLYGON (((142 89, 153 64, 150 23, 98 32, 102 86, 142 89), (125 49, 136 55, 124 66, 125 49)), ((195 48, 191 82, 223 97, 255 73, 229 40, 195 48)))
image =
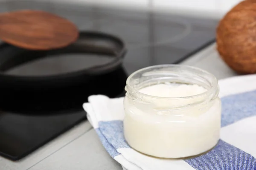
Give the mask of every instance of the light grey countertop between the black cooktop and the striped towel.
MULTIPOLYGON (((183 62, 203 68, 218 79, 235 76, 210 45, 183 62)), ((108 155, 88 121, 62 134, 20 161, 0 157, 0 170, 122 170, 108 155)))

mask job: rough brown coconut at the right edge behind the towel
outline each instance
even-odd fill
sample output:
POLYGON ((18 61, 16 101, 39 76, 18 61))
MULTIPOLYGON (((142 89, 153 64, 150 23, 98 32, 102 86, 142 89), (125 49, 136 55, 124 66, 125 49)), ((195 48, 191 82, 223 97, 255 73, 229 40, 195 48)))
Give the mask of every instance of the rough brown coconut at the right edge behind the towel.
POLYGON ((242 74, 256 73, 256 0, 245 0, 220 21, 217 50, 227 65, 242 74))

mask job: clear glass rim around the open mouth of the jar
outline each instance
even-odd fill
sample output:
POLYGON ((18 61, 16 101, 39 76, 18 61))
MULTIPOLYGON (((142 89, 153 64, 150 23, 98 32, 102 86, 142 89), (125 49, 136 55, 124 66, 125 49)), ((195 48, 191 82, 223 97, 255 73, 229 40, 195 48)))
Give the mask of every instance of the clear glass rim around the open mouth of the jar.
MULTIPOLYGON (((134 75, 138 74, 139 72, 145 71, 145 70, 149 70, 152 68, 167 68, 167 67, 176 67, 176 68, 189 68, 189 69, 193 69, 196 71, 201 71, 204 74, 207 74, 208 76, 210 76, 212 78, 212 83, 211 83, 211 88, 207 89, 207 91, 200 93, 200 94, 196 94, 196 95, 192 95, 192 96, 182 96, 182 97, 162 97, 162 96, 153 96, 153 95, 149 95, 149 94, 144 94, 141 93, 140 91, 133 89, 133 91, 141 96, 145 96, 145 97, 150 97, 150 98, 155 98, 155 99, 192 99, 192 98, 196 98, 196 97, 200 97, 200 96, 209 96, 210 94, 214 93, 214 91, 218 90, 218 79, 211 73, 209 73, 208 71, 198 68, 198 67, 194 67, 194 66, 189 66, 189 65, 181 65, 181 64, 163 64, 163 65, 152 65, 152 66, 148 66, 145 68, 141 68, 137 71, 135 71, 134 73, 132 73, 126 80, 126 88, 131 89, 131 85, 130 85, 130 80, 131 78, 134 77, 134 75)), ((126 90, 127 91, 127 90, 126 90)))

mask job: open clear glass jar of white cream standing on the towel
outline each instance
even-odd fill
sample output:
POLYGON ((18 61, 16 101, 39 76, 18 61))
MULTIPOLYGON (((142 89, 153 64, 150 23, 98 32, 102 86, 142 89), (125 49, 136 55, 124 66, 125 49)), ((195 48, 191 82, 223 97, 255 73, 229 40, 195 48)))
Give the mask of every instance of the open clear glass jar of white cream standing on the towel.
POLYGON ((160 158, 186 158, 211 150, 220 138, 221 101, 216 77, 186 65, 155 65, 131 74, 124 99, 124 135, 135 150, 160 158), (159 97, 139 90, 161 83, 196 84, 205 92, 159 97))

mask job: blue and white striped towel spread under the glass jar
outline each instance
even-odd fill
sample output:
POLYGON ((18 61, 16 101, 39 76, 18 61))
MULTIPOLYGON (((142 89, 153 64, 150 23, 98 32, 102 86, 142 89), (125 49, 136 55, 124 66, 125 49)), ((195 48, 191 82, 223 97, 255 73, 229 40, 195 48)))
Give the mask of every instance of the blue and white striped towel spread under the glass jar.
POLYGON ((221 140, 194 159, 156 159, 136 152, 123 135, 123 98, 89 97, 87 117, 108 153, 128 170, 256 170, 256 75, 219 81, 221 140))

